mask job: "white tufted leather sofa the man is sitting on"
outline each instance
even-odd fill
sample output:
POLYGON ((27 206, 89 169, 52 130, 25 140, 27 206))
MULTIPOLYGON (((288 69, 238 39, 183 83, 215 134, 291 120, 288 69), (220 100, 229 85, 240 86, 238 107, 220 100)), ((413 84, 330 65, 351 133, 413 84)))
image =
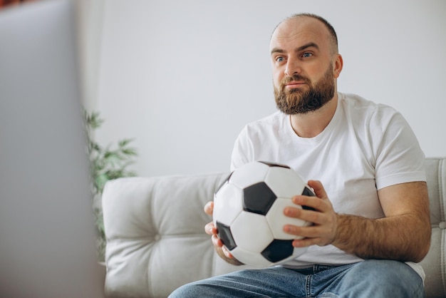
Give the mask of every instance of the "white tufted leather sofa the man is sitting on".
MULTIPOLYGON (((432 242, 422 261, 428 298, 446 297, 446 158, 427 158, 432 242)), ((228 173, 121 178, 103 192, 108 297, 167 297, 233 267, 214 252, 203 212, 228 173)), ((414 241, 417 241, 414 239, 414 241)))

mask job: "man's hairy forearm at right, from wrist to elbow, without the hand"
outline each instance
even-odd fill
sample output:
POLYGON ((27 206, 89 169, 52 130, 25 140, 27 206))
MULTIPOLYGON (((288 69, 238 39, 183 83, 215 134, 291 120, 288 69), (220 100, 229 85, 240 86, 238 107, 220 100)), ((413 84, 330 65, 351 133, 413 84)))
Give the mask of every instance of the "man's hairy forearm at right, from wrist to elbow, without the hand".
POLYGON ((430 224, 414 215, 376 220, 338 215, 336 237, 339 249, 363 259, 420 262, 430 246, 430 224))

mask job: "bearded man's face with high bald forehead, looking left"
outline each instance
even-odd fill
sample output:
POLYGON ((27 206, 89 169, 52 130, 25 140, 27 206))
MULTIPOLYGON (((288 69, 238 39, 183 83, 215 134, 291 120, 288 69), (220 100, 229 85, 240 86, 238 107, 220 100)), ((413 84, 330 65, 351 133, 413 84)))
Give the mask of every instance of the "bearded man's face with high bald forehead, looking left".
POLYGON ((293 115, 316 111, 336 92, 331 39, 318 20, 300 17, 280 24, 271 38, 274 96, 279 110, 293 115))

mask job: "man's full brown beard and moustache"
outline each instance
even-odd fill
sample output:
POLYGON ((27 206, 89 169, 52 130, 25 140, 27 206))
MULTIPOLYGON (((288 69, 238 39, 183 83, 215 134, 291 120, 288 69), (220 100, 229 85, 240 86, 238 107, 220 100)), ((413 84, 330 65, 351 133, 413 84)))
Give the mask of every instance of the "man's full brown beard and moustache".
POLYGON ((280 90, 274 86, 274 97, 280 111, 286 115, 305 114, 316 111, 333 98, 335 92, 333 66, 328 66, 326 73, 314 86, 308 78, 294 75, 287 76, 280 84, 280 90), (304 81, 309 89, 285 90, 287 83, 291 81, 304 81))

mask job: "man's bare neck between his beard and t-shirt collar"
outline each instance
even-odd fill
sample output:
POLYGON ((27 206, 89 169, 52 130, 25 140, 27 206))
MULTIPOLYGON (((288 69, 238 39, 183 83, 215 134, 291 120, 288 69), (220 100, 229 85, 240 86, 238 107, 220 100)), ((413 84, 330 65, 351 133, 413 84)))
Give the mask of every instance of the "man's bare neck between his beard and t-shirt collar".
POLYGON ((290 116, 291 127, 301 138, 314 138, 327 127, 338 106, 338 94, 317 111, 290 116))

